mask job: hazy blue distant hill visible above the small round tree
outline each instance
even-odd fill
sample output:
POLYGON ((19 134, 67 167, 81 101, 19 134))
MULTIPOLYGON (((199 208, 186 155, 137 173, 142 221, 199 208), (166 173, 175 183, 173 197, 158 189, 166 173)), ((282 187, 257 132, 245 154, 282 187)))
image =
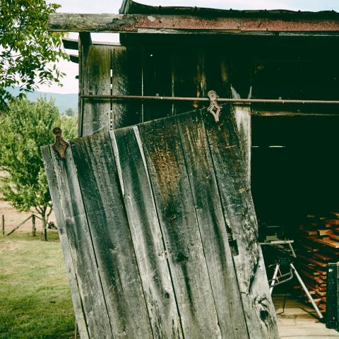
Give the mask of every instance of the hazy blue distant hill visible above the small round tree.
MULTIPOLYGON (((9 92, 12 95, 18 95, 19 89, 18 88, 11 88, 9 92)), ((78 111, 78 93, 71 93, 71 94, 59 94, 59 93, 45 93, 36 90, 33 93, 28 93, 27 98, 30 101, 37 101, 38 97, 47 97, 53 98, 55 105, 59 108, 61 114, 64 114, 66 109, 71 108, 74 111, 78 111)))

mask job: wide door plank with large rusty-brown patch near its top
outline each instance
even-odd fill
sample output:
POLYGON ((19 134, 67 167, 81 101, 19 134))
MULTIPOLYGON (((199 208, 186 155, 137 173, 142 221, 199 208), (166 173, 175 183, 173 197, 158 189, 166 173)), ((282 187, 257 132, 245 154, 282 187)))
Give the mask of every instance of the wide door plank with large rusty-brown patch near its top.
POLYGON ((139 125, 185 338, 221 338, 175 117, 139 125))

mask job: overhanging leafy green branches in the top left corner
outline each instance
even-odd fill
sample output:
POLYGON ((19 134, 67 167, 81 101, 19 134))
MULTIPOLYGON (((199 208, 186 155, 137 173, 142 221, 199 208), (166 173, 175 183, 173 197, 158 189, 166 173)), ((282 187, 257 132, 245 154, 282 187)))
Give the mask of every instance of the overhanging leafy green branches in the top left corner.
POLYGON ((59 83, 55 61, 68 56, 60 33, 47 30, 57 8, 44 0, 0 1, 0 111, 14 99, 8 88, 20 86, 22 97, 42 83, 59 83))

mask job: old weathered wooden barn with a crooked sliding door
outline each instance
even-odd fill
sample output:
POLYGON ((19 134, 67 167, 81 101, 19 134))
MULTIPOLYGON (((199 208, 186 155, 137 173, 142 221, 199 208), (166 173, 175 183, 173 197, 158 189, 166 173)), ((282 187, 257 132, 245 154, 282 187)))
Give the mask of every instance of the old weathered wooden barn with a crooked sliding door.
POLYGON ((258 237, 338 327, 339 14, 125 0, 49 30, 79 32, 79 138, 42 152, 81 338, 279 338, 258 237))

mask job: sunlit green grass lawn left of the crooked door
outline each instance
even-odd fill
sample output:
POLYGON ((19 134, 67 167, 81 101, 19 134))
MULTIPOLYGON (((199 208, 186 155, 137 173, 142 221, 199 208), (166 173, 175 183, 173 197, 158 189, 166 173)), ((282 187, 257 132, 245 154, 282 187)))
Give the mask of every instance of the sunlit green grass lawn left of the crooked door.
POLYGON ((0 235, 0 338, 74 338, 74 314, 57 232, 49 242, 0 235))

